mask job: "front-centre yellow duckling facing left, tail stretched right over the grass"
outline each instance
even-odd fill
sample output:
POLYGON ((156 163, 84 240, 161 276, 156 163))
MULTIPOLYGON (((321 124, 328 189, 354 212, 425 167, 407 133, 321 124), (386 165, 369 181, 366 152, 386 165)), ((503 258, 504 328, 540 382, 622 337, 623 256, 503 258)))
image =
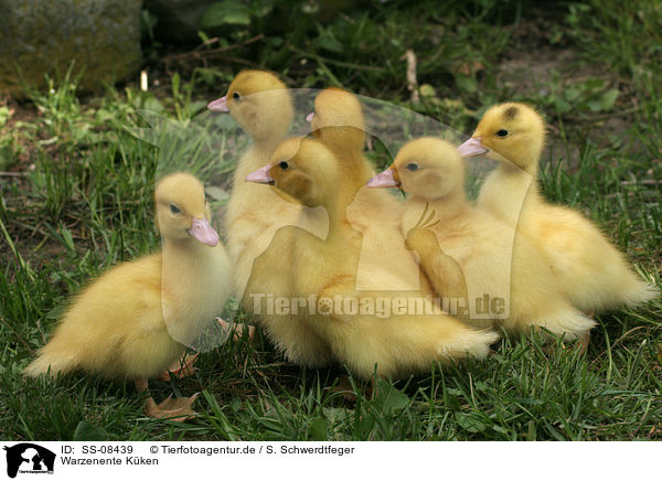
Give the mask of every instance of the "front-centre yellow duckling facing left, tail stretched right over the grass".
MULTIPOLYGON (((323 143, 310 138, 288 139, 276 149, 271 162, 249 180, 273 185, 310 209, 322 206, 327 211, 325 238, 297 226, 282 227, 269 248, 275 252, 269 254, 275 258, 281 254, 292 256, 288 277, 291 292, 314 303, 297 306, 297 322, 324 339, 333 357, 356 376, 370 378, 376 372, 380 376, 402 377, 429 368, 435 361, 481 357, 498 339, 494 332, 473 330, 434 306, 430 313, 418 316, 402 311, 380 316, 371 311, 370 306, 380 299, 395 302, 412 293, 426 300, 420 292, 384 296, 382 291, 356 290, 363 243, 361 233, 348 223, 346 207, 352 199, 343 192, 352 184, 352 177, 323 143), (338 303, 333 307, 338 299, 343 304, 340 308, 338 303)), ((378 275, 386 274, 380 270, 378 275)))

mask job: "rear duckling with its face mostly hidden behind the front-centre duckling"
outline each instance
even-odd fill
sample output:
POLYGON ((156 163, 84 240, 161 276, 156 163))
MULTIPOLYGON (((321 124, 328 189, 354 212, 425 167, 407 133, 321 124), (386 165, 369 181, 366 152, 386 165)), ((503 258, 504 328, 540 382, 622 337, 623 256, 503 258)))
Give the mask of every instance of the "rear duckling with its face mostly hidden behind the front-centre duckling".
POLYGON ((365 120, 361 103, 353 94, 327 88, 314 99, 314 113, 307 117, 312 136, 327 146, 343 168, 351 172, 344 190, 353 201, 348 205, 348 221, 363 234, 359 261, 359 290, 417 290, 431 293, 420 276, 415 257, 405 248, 399 228, 403 203, 386 191, 365 188, 375 172, 363 154, 365 120), (388 260, 384 253, 388 253, 388 260), (397 276, 375 276, 380 267, 397 276), (385 279, 392 282, 384 284, 385 279), (420 285, 423 282, 423 286, 420 285))

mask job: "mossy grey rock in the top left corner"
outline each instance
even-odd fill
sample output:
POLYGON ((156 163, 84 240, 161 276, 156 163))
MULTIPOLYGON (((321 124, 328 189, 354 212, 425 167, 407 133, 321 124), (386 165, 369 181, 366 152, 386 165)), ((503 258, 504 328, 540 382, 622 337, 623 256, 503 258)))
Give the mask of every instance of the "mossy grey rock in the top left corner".
POLYGON ((0 92, 24 95, 75 62, 81 86, 136 73, 141 0, 0 0, 0 92))

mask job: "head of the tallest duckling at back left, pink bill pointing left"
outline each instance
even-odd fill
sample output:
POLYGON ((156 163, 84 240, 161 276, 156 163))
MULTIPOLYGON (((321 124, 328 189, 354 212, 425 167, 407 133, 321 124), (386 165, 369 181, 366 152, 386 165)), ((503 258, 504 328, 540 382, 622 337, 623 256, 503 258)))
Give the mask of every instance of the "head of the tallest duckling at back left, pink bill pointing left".
POLYGON ((263 71, 243 71, 227 94, 207 105, 229 115, 256 140, 280 140, 292 121, 292 99, 280 79, 263 71))

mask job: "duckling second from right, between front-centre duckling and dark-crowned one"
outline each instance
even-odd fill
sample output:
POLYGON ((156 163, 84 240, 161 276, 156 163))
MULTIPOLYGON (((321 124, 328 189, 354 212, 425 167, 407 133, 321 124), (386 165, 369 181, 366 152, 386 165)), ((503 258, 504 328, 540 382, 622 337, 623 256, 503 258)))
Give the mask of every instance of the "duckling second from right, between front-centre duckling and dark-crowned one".
POLYGON ((465 163, 452 145, 433 137, 412 140, 387 173, 371 182, 401 184, 409 194, 403 216, 407 244, 419 253, 440 296, 467 292, 469 322, 489 319, 515 332, 543 327, 566 339, 592 328, 594 321, 555 289, 551 269, 528 238, 515 238, 514 227, 467 202, 465 163), (436 223, 418 227, 428 210, 436 223))

